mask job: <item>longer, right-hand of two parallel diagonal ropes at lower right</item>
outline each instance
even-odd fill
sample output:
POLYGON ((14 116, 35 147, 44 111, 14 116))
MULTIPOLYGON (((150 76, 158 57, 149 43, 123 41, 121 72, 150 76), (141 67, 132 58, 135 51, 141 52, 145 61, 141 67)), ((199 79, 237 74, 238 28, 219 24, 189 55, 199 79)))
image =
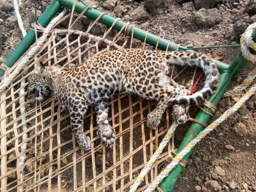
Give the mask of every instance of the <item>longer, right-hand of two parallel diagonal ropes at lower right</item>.
POLYGON ((235 105, 233 105, 233 107, 229 108, 228 110, 226 110, 226 112, 224 112, 218 119, 216 119, 215 121, 213 121, 212 124, 210 124, 208 127, 206 127, 204 130, 202 130, 201 133, 199 133, 197 135, 196 138, 194 138, 193 140, 190 141, 190 143, 187 144, 187 146, 185 146, 185 148, 182 149, 182 151, 179 152, 179 154, 176 155, 176 157, 172 160, 171 163, 169 163, 169 165, 166 166, 165 169, 163 169, 163 171, 158 174, 157 178, 154 180, 154 182, 151 183, 151 185, 149 185, 149 187, 144 191, 144 192, 151 192, 154 191, 155 188, 159 185, 159 183, 162 182, 163 179, 165 179, 166 176, 168 176, 169 172, 176 166, 178 165, 178 163, 180 162, 180 160, 182 160, 182 158, 188 154, 188 152, 191 151, 191 149, 194 148, 194 146, 199 143, 199 141, 202 140, 202 138, 204 138, 206 135, 208 135, 208 133, 210 133, 213 129, 215 129, 216 127, 219 126, 219 124, 221 124, 224 120, 226 120, 229 116, 232 116, 243 104, 244 102, 246 102, 256 91, 256 84, 254 84, 252 86, 252 88, 250 88, 250 90, 244 94, 244 96, 242 98, 239 99, 238 102, 236 102, 235 105))

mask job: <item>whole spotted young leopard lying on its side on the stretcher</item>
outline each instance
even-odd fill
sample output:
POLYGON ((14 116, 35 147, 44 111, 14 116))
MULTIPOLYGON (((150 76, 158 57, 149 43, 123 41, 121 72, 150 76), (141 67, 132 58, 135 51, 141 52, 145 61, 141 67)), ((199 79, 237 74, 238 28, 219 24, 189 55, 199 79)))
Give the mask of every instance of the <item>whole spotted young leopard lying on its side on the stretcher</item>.
POLYGON ((29 91, 42 100, 52 91, 55 99, 68 109, 71 127, 77 143, 90 150, 90 138, 84 135, 82 124, 89 105, 96 110, 98 135, 111 146, 115 133, 108 123, 107 101, 118 93, 136 93, 146 99, 157 100, 148 114, 148 127, 155 129, 166 108, 173 106, 178 123, 187 120, 185 105, 198 105, 209 98, 218 86, 219 72, 215 63, 196 52, 165 52, 144 49, 120 49, 95 55, 83 65, 73 68, 49 66, 29 78, 29 91), (185 88, 173 87, 168 76, 171 64, 199 66, 205 73, 201 91, 187 96, 185 88))

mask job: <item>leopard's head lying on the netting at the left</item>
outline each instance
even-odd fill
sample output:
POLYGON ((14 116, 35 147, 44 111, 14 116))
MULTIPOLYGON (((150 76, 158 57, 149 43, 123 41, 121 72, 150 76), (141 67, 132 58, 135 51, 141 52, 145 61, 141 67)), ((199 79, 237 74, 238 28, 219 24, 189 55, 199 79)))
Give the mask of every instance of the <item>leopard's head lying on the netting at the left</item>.
POLYGON ((36 100, 43 101, 43 99, 47 98, 51 93, 51 87, 48 85, 47 78, 44 71, 41 70, 39 73, 31 74, 27 79, 29 82, 27 93, 34 94, 36 100))

